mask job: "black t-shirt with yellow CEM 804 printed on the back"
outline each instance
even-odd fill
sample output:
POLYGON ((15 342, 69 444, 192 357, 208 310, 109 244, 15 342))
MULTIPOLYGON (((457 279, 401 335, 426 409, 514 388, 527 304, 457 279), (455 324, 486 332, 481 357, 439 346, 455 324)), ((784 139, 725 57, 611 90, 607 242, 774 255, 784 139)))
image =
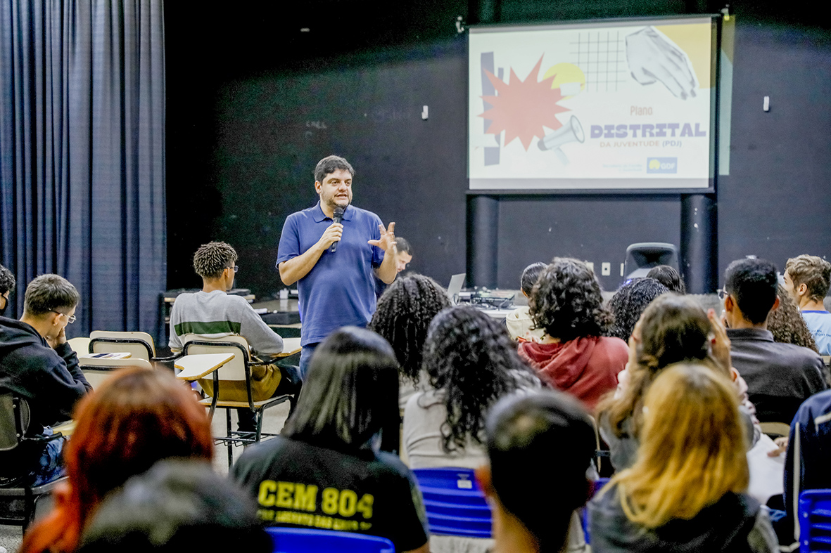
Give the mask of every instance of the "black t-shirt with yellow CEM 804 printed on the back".
POLYGON ((342 453, 278 437, 248 448, 232 475, 268 524, 386 537, 396 551, 427 542, 416 481, 390 453, 342 453))

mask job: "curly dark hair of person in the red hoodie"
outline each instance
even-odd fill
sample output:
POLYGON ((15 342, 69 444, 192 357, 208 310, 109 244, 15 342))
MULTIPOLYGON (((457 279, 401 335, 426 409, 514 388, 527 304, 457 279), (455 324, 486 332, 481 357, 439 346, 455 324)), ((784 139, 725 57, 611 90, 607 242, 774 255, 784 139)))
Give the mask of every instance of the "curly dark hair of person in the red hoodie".
POLYGON ((531 290, 529 313, 536 328, 563 342, 607 335, 612 314, 603 306, 597 276, 570 257, 554 257, 531 290))

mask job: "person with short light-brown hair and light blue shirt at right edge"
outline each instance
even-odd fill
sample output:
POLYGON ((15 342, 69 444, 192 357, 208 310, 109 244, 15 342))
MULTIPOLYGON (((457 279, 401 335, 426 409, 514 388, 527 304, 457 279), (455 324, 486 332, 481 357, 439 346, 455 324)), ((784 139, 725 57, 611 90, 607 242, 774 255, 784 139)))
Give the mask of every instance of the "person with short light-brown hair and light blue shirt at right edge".
POLYGON ((799 305, 821 355, 831 355, 831 313, 823 300, 831 286, 831 263, 822 257, 791 257, 784 265, 784 287, 799 305))

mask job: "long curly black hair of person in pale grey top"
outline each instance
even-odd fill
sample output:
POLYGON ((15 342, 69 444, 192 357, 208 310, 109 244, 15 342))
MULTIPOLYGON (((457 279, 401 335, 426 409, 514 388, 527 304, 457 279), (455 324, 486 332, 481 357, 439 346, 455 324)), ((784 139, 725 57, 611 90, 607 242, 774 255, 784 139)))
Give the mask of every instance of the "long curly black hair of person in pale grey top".
POLYGON ((443 447, 464 448, 467 438, 483 443, 485 411, 524 386, 538 385, 519 359, 504 325, 473 307, 451 307, 435 317, 425 342, 424 368, 447 408, 443 447))

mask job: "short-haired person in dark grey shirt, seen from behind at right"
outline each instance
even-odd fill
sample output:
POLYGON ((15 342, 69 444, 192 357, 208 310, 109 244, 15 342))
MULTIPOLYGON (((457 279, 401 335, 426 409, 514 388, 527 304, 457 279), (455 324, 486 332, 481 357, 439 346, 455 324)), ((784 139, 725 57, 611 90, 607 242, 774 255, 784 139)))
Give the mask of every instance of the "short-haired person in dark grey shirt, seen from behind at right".
POLYGON ((779 306, 776 267, 763 259, 741 259, 725 272, 725 320, 730 359, 747 382, 762 422, 788 422, 805 399, 827 386, 816 352, 778 344, 767 330, 779 306))

